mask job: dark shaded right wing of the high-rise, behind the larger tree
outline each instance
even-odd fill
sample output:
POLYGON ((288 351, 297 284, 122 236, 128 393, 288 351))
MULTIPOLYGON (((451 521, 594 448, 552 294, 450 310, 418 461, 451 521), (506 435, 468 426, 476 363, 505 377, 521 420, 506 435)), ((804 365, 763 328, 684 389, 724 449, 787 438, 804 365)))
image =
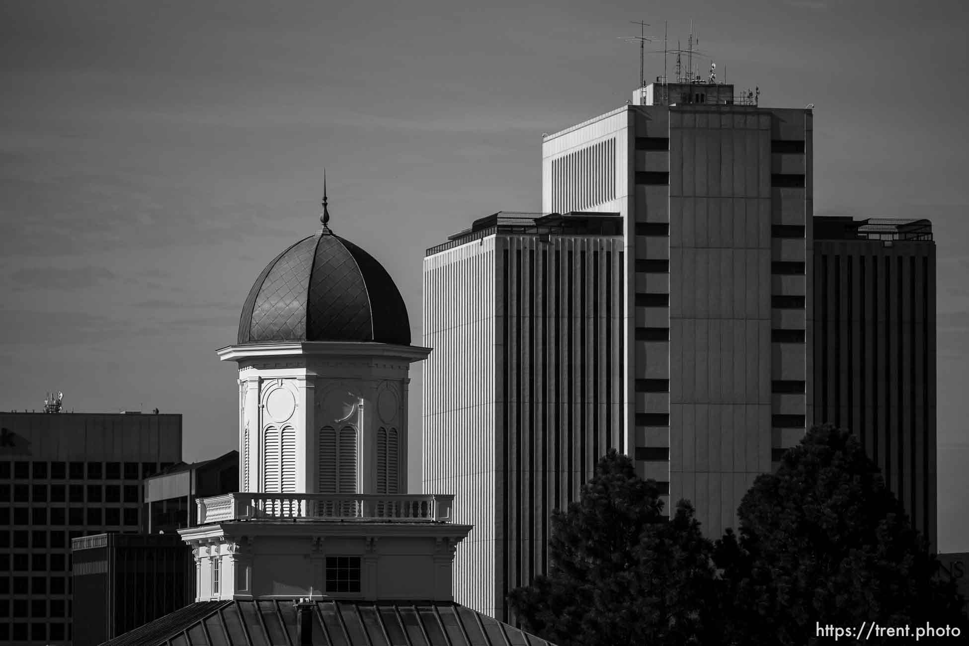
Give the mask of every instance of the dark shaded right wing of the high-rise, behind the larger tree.
POLYGON ((814 219, 814 418, 851 429, 936 545, 928 220, 814 219))

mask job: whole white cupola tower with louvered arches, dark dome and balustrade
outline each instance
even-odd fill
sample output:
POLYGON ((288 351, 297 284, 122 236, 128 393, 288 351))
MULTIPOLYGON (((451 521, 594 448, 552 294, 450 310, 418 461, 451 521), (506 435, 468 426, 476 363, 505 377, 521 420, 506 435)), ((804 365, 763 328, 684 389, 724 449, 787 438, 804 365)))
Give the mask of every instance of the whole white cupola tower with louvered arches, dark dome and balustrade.
POLYGON ((239 492, 180 530, 202 600, 452 600, 451 495, 407 493, 411 345, 404 300, 323 228, 266 265, 242 306, 239 492))

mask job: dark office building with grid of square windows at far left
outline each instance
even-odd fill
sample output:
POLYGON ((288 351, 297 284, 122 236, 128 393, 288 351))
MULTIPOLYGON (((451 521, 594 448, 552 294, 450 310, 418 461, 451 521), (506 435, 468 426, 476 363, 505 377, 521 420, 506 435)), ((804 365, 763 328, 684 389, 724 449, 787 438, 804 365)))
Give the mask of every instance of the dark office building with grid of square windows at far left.
POLYGON ((0 414, 0 643, 70 643, 71 539, 139 532, 181 415, 0 414), (9 618, 7 620, 6 618, 9 618))

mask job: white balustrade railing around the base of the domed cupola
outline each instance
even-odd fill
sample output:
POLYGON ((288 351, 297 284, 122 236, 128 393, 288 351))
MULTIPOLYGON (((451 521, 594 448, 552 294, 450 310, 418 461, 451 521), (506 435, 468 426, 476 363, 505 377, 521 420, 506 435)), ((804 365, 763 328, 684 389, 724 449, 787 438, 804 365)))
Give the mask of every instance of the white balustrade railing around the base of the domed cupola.
POLYGON ((451 522, 451 494, 232 493, 197 500, 198 521, 381 520, 451 522))

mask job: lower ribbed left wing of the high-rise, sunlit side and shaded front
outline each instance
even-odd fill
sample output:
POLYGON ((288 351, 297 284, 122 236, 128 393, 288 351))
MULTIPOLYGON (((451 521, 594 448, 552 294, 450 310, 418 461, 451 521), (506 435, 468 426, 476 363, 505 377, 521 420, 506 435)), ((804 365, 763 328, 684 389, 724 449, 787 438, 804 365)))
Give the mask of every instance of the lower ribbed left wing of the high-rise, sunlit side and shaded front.
POLYGON ((549 517, 622 449, 622 220, 496 213, 423 261, 423 490, 454 492, 454 600, 499 620, 549 517))

